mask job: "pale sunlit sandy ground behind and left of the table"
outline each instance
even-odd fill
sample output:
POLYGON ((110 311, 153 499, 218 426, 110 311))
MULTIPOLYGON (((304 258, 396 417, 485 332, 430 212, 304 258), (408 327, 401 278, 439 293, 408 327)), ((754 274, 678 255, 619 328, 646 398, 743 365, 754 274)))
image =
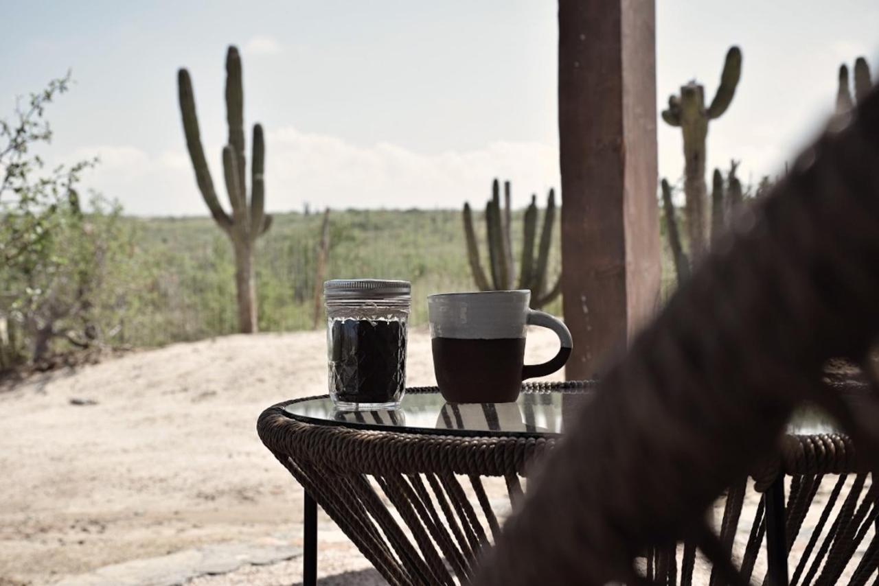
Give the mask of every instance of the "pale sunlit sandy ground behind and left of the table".
MULTIPOLYGON (((227 336, 35 376, 0 393, 0 585, 299 536, 301 489, 259 442, 256 421, 272 403, 326 392, 325 344, 320 331, 227 336)), ((557 344, 534 329, 530 361, 557 344)), ((407 367, 408 384, 434 383, 425 331, 410 334, 407 367)), ((321 574, 352 572, 327 583, 369 578, 329 519, 320 529, 321 574)), ((299 568, 291 561, 263 577, 243 568, 240 582, 228 580, 298 582, 299 568)))

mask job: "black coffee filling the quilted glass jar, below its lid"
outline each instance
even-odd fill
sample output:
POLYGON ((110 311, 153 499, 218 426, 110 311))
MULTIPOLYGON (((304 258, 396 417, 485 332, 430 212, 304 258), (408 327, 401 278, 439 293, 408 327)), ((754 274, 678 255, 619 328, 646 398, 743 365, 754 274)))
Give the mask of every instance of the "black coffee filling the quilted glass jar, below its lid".
POLYGON ((336 401, 399 401, 406 380, 406 326, 394 320, 333 320, 330 384, 336 401))

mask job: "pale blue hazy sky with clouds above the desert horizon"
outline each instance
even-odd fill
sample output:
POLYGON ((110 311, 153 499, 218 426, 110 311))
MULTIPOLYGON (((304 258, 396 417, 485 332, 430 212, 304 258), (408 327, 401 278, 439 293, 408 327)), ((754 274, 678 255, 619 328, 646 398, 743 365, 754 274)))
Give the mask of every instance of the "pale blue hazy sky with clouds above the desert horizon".
MULTIPOLYGON (((646 0, 645 0, 646 1, 646 0)), ((482 206, 493 177, 514 205, 558 187, 556 3, 551 0, 0 0, 0 118, 72 71, 50 106, 47 158, 98 156, 84 186, 137 215, 206 215, 185 150, 177 70, 189 69, 222 192, 226 47, 241 49, 245 124, 266 133, 266 206, 482 206)), ((744 54, 708 165, 774 175, 832 112, 839 64, 879 74, 875 0, 657 0, 657 110, 698 79, 713 97, 744 54)), ((250 136, 250 130, 247 132, 250 136)), ((659 170, 683 173, 679 129, 657 125, 659 170)), ((248 147, 249 148, 249 147, 248 147)), ((225 195, 222 200, 226 201, 225 195)))

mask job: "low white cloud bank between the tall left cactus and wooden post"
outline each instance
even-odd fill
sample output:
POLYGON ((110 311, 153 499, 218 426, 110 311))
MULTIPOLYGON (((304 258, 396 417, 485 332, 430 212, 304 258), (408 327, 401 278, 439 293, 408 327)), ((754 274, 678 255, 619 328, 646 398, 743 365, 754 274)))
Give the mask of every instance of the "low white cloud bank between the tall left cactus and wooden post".
POLYGON ((458 207, 465 200, 482 206, 493 177, 510 179, 514 204, 524 206, 532 192, 542 197, 559 184, 558 151, 536 142, 425 155, 286 127, 268 134, 266 152, 274 197, 312 206, 458 207))

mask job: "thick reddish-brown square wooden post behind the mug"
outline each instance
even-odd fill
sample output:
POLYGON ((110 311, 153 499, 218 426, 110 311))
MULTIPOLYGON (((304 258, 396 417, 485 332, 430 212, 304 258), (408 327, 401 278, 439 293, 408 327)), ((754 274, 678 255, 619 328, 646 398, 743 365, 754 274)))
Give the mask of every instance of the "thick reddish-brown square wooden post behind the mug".
POLYGON ((653 0, 559 0, 569 379, 600 376, 659 300, 653 0))

